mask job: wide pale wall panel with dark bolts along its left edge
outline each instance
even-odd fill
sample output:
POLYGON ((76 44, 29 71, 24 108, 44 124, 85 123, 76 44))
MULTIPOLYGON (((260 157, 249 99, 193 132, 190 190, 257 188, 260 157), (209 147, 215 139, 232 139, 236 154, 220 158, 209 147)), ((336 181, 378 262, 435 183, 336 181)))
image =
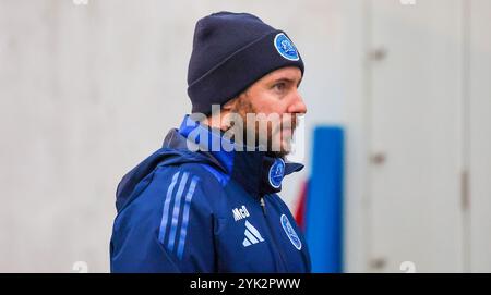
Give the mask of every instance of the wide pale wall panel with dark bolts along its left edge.
POLYGON ((372 270, 463 271, 460 1, 371 3, 372 270))

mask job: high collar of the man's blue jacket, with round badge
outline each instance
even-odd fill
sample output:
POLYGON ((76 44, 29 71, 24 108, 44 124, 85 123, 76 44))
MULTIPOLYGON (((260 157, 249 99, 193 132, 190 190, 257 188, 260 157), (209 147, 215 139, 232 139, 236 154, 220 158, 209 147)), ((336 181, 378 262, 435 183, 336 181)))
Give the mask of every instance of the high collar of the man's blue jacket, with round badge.
POLYGON ((201 124, 190 115, 184 116, 178 133, 187 138, 187 149, 212 157, 223 172, 256 197, 280 192, 283 177, 303 168, 270 157, 265 151, 249 151, 224 137, 220 130, 201 124))

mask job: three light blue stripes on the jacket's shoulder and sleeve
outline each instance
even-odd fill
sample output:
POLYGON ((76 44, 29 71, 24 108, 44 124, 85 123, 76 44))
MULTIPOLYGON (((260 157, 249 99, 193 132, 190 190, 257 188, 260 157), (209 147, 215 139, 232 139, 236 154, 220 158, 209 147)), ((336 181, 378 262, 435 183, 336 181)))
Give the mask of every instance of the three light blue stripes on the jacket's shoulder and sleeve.
POLYGON ((169 253, 176 250, 176 255, 179 259, 182 259, 184 253, 189 211, 194 189, 199 181, 200 179, 197 176, 190 179, 188 172, 176 172, 167 189, 166 199, 164 201, 158 241, 166 246, 169 253), (176 187, 178 183, 179 185, 176 187))

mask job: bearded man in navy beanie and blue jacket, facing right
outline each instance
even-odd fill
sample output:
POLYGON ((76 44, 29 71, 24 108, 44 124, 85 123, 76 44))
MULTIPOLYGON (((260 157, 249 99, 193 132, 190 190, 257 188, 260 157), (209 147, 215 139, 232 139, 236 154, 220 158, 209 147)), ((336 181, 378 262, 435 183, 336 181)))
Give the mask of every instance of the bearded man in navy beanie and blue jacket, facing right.
POLYGON ((303 236, 276 195, 302 168, 284 159, 307 111, 302 75, 287 35, 254 15, 196 23, 193 114, 119 184, 112 272, 310 271, 303 236))

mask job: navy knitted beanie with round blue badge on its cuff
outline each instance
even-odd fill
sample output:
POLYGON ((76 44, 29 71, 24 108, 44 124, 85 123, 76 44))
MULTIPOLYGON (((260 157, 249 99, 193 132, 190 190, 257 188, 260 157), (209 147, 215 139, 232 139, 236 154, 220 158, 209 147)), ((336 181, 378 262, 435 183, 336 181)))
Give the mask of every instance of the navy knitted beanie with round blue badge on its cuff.
POLYGON ((218 12, 197 21, 188 69, 192 112, 212 113, 270 72, 303 62, 285 32, 249 13, 218 12))

